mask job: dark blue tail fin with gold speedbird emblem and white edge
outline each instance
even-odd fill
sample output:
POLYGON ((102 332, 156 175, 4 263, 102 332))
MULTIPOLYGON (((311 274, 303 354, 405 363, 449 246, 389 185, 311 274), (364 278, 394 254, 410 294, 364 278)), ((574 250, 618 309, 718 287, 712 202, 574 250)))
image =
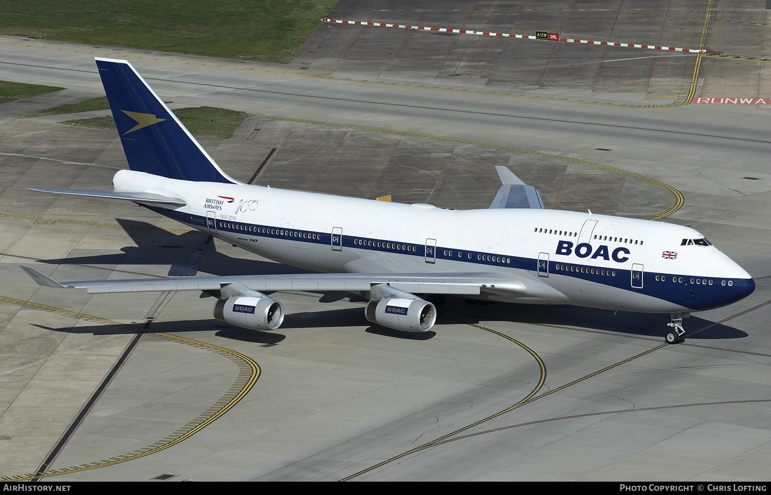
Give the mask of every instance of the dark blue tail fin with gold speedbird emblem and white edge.
POLYGON ((169 179, 237 183, 126 60, 96 59, 129 167, 169 179))

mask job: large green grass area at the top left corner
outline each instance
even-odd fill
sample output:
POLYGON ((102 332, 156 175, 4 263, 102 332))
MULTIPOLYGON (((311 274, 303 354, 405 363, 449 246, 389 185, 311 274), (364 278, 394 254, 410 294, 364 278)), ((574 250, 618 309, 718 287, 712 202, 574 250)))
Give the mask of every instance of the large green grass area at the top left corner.
POLYGON ((337 0, 0 2, 0 34, 286 63, 337 0))

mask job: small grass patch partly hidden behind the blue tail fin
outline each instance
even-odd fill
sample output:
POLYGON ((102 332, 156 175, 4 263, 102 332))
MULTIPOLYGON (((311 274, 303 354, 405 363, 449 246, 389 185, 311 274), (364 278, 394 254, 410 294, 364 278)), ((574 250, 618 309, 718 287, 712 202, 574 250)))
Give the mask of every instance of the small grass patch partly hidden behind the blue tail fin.
MULTIPOLYGON (((190 134, 197 138, 225 139, 233 134, 246 117, 245 112, 227 109, 215 109, 210 106, 199 106, 191 109, 174 110, 177 119, 183 123, 190 134)), ((69 120, 65 124, 82 125, 94 129, 112 129, 117 132, 112 117, 96 117, 94 119, 69 120)))

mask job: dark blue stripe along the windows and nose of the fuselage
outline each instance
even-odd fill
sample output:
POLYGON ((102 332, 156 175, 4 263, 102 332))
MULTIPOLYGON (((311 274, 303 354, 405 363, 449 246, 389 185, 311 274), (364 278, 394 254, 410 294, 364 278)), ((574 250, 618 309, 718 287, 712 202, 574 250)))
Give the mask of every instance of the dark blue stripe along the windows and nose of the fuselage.
MULTIPOLYGON (((205 216, 194 215, 192 213, 177 212, 155 206, 146 206, 161 215, 182 222, 196 229, 206 229, 207 219, 205 216)), ((234 234, 243 234, 245 236, 263 237, 268 239, 287 239, 298 242, 308 242, 323 246, 332 246, 332 232, 317 232, 313 230, 302 229, 281 229, 280 227, 259 225, 246 222, 234 222, 231 220, 217 219, 217 231, 234 234)), ((343 236, 342 246, 348 249, 362 249, 368 251, 380 251, 385 253, 397 253, 403 256, 416 256, 420 259, 426 257, 426 246, 409 242, 387 241, 382 239, 372 239, 360 236, 343 236), (391 247, 389 247, 391 246, 391 247), (402 246, 402 247, 399 247, 402 246)), ((472 251, 467 249, 452 249, 443 246, 436 246, 437 260, 460 261, 463 263, 472 263, 473 265, 497 266, 507 269, 526 270, 537 273, 536 258, 527 258, 522 256, 504 256, 494 255, 495 259, 503 261, 493 261, 493 255, 481 251, 472 251), (446 252, 446 254, 445 254, 446 252), (453 253, 452 256, 449 253, 453 253), (461 256, 457 256, 461 253, 461 256), (469 255, 471 257, 469 258, 469 255), (487 257, 490 256, 490 260, 487 257)), ((690 283, 695 277, 678 275, 675 273, 644 272, 642 276, 642 288, 631 286, 631 270, 628 269, 608 269, 596 268, 594 266, 585 266, 577 263, 564 263, 554 260, 549 261, 549 276, 568 276, 574 279, 587 280, 599 283, 604 286, 614 287, 615 289, 628 290, 633 293, 645 294, 646 296, 662 299, 668 303, 674 303, 678 306, 687 308, 707 309, 715 306, 722 306, 730 302, 742 299, 750 290, 754 288, 752 279, 715 279, 712 278, 712 286, 709 282, 706 285, 690 283), (580 270, 584 269, 582 273, 580 270), (591 273, 594 269, 595 273, 591 273), (571 271, 578 270, 578 271, 571 271), (602 275, 604 270, 606 275, 602 275), (608 275, 610 273, 610 275, 608 275), (655 277, 659 276, 659 280, 655 277), (662 277, 664 277, 662 279, 662 277), (682 283, 672 282, 672 277, 683 280, 682 283), (732 286, 722 286, 722 282, 732 282, 732 286)), ((704 278, 704 277, 702 277, 704 278)), ((709 281, 708 278, 705 278, 709 281)))

